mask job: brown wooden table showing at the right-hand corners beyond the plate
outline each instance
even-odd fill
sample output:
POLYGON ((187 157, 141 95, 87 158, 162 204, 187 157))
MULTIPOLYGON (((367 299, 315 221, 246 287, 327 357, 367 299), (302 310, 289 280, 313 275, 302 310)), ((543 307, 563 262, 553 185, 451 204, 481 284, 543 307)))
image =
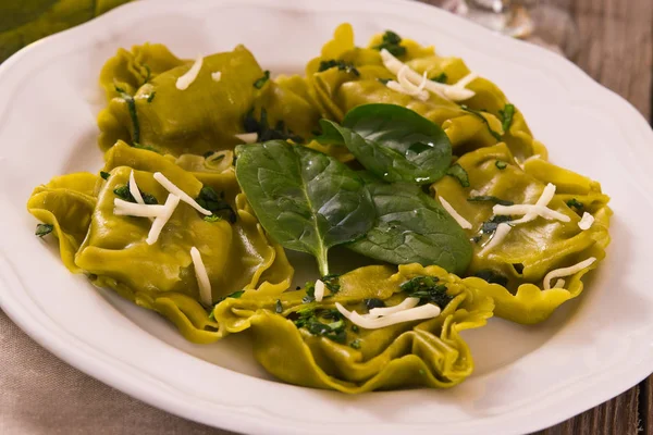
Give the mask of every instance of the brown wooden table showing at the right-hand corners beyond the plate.
MULTIPOLYGON (((572 60, 653 123, 653 0, 540 0, 542 3, 568 11, 576 23, 580 47, 572 60)), ((653 435, 653 375, 620 396, 538 433, 577 434, 653 435)))

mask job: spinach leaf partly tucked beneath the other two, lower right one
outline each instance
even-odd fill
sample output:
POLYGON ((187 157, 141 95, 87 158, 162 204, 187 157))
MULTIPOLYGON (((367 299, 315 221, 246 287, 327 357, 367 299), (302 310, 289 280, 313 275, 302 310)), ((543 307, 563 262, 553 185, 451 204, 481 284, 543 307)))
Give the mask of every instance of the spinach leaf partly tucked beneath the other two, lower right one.
POLYGON ((465 232, 433 198, 407 183, 368 184, 377 207, 377 223, 348 244, 355 252, 392 264, 436 264, 465 272, 472 247, 465 232))

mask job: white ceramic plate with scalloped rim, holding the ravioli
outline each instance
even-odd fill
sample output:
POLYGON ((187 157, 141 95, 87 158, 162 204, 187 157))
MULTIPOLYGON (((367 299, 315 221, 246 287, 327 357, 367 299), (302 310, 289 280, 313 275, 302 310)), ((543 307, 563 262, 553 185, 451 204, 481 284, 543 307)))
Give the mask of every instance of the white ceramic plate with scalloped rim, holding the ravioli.
POLYGON ((653 134, 631 105, 556 54, 396 0, 136 2, 21 51, 0 66, 0 89, 2 309, 69 363, 156 407, 266 434, 517 434, 653 371, 653 134), (194 58, 244 42, 273 72, 301 71, 344 21, 359 44, 392 28, 464 58, 523 111, 553 161, 613 197, 614 241, 586 293, 543 324, 493 319, 466 334, 477 371, 451 390, 350 397, 278 383, 246 338, 192 345, 158 315, 71 275, 25 211, 51 176, 99 170, 97 77, 119 47, 159 41, 194 58))

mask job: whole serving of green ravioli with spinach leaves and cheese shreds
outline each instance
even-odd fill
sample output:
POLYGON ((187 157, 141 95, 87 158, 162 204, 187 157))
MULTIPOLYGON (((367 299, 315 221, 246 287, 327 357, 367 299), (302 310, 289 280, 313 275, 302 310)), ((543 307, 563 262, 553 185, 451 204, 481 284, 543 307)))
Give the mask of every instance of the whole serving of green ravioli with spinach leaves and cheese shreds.
POLYGON ((188 340, 249 331, 279 380, 348 394, 459 384, 461 331, 545 321, 605 258, 600 184, 549 162, 460 59, 391 30, 358 47, 342 24, 278 73, 244 46, 120 49, 99 79, 104 166, 36 187, 36 235, 188 340), (335 270, 334 248, 370 265, 335 270), (312 279, 293 284, 286 250, 312 279))

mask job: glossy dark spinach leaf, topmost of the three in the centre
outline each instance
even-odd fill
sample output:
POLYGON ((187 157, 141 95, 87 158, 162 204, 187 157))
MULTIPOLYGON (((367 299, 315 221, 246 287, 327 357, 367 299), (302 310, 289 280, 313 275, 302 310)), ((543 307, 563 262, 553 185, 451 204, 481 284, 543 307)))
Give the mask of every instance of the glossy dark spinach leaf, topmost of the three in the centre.
POLYGON ((444 130, 410 109, 364 104, 352 109, 343 124, 321 120, 322 144, 345 145, 372 174, 390 182, 431 184, 452 161, 444 130))

